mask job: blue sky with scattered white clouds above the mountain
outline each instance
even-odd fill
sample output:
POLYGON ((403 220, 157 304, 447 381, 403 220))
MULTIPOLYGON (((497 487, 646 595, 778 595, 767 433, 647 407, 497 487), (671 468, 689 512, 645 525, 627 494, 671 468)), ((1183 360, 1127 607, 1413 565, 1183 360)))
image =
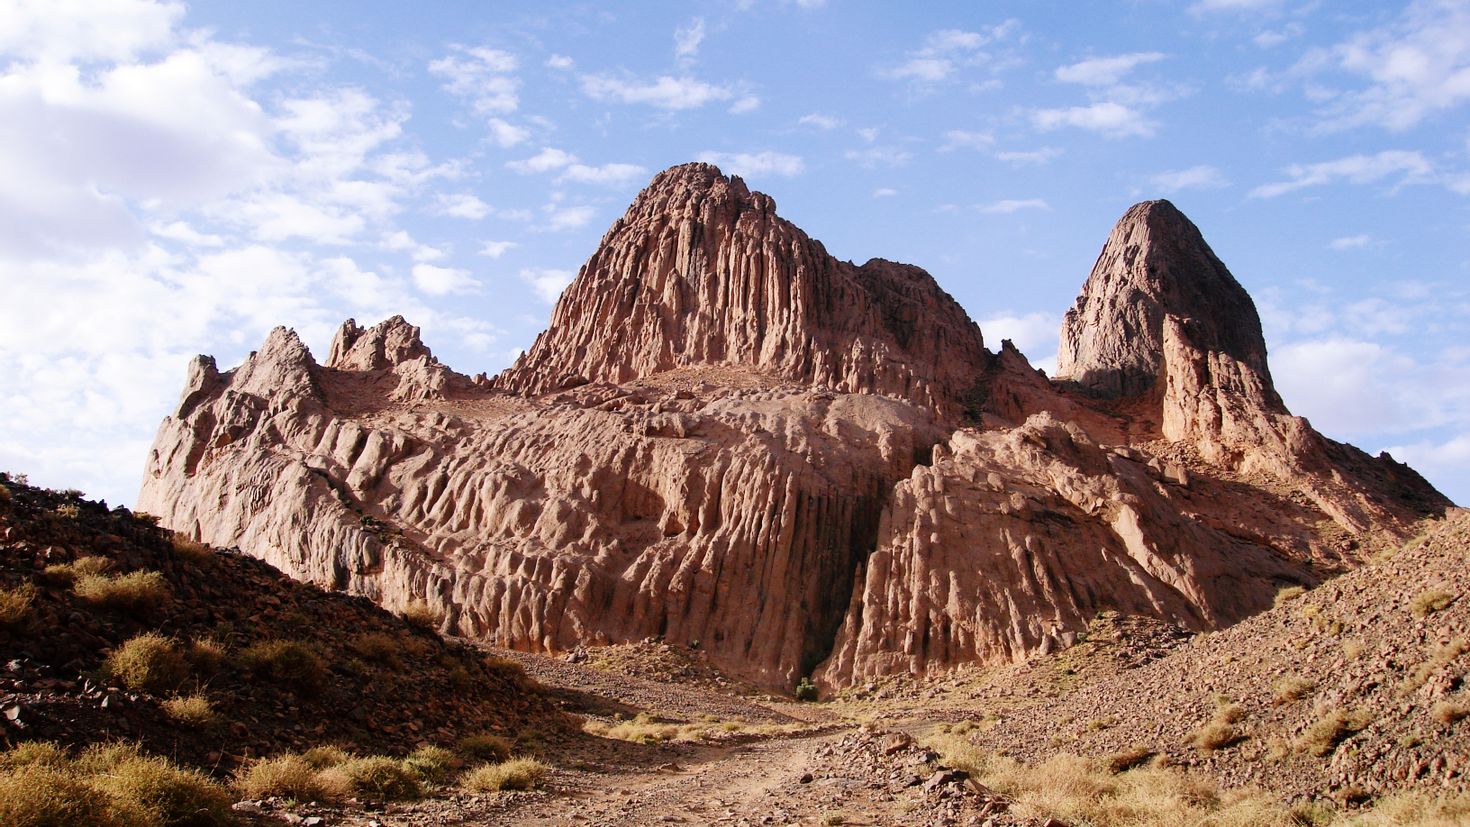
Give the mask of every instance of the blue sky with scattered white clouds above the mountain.
POLYGON ((131 502, 185 364, 403 313, 529 345, 660 169, 1054 364, 1173 200, 1288 405, 1470 502, 1470 3, 0 0, 0 467, 131 502))

